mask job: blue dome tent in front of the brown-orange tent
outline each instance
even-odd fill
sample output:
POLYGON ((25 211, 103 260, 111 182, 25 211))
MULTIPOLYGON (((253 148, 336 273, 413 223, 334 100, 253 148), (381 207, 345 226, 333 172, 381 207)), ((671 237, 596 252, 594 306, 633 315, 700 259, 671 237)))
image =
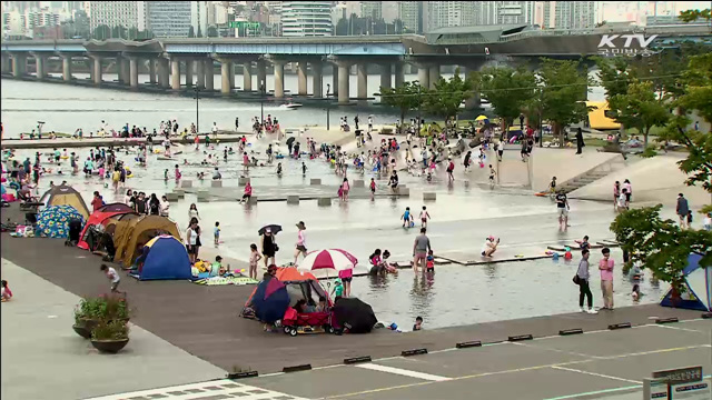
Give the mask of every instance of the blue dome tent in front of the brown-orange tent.
POLYGON ((190 279, 190 259, 182 243, 168 234, 151 239, 144 247, 144 253, 137 259, 138 280, 190 279))

